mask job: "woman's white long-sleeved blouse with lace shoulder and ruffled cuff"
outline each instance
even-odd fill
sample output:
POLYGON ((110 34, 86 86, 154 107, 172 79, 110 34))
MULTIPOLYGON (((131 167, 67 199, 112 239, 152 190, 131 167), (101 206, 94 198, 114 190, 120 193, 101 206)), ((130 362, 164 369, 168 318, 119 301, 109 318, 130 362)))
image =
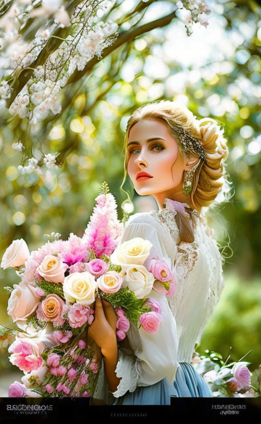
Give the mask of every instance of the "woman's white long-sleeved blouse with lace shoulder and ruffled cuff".
POLYGON ((159 258, 169 256, 175 270, 177 288, 173 296, 152 290, 149 297, 162 308, 162 323, 155 333, 131 325, 126 333, 129 349, 120 347, 115 368, 121 378, 115 398, 137 386, 148 386, 166 378, 175 380, 179 362, 190 362, 195 343, 217 304, 224 280, 223 257, 206 219, 200 214, 193 243, 181 242, 172 210, 152 210, 132 215, 125 224, 120 243, 143 237, 149 240, 159 258))

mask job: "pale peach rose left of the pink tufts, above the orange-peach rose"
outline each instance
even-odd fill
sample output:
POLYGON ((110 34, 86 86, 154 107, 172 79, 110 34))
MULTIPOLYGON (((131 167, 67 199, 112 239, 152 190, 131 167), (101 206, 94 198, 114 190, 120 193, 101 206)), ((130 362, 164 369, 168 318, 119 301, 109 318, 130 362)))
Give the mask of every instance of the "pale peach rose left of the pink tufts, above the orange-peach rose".
POLYGON ((64 273, 68 265, 62 259, 54 255, 46 255, 36 271, 45 279, 53 283, 63 283, 64 273))

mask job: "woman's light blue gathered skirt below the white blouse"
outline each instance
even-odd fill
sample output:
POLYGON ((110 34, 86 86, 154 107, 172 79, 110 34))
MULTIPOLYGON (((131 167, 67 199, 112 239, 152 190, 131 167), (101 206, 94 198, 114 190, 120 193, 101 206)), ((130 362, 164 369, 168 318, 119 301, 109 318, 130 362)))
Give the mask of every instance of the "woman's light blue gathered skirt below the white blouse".
POLYGON ((166 378, 151 386, 137 386, 117 398, 113 405, 170 405, 170 398, 212 398, 203 377, 189 362, 179 362, 173 384, 166 378))

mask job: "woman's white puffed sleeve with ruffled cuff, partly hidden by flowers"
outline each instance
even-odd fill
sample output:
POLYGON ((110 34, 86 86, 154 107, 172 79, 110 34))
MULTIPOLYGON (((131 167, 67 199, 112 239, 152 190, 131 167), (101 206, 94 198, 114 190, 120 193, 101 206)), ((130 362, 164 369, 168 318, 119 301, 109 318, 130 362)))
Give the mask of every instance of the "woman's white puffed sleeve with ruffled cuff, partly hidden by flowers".
MULTIPOLYGON (((150 219, 153 222, 152 217, 150 219)), ((167 256, 166 238, 151 222, 135 222, 129 224, 124 231, 121 242, 142 237, 149 240, 159 258, 167 256)), ((155 333, 149 333, 142 327, 130 328, 127 332, 129 345, 134 353, 128 349, 120 348, 118 362, 115 368, 117 377, 121 377, 115 392, 115 397, 134 391, 137 386, 149 386, 166 378, 169 384, 173 384, 177 360, 177 331, 176 322, 167 298, 164 294, 151 290, 149 296, 159 302, 161 306, 162 322, 155 333)))

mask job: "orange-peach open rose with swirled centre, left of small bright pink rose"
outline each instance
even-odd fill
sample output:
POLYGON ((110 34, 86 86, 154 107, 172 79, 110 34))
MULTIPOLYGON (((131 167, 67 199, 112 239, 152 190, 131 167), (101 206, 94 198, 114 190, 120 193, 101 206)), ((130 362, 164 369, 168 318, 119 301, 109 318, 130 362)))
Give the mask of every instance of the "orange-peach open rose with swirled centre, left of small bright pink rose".
POLYGON ((68 309, 69 305, 60 296, 50 294, 38 304, 36 314, 39 321, 51 321, 54 326, 60 327, 65 323, 63 315, 68 309))

